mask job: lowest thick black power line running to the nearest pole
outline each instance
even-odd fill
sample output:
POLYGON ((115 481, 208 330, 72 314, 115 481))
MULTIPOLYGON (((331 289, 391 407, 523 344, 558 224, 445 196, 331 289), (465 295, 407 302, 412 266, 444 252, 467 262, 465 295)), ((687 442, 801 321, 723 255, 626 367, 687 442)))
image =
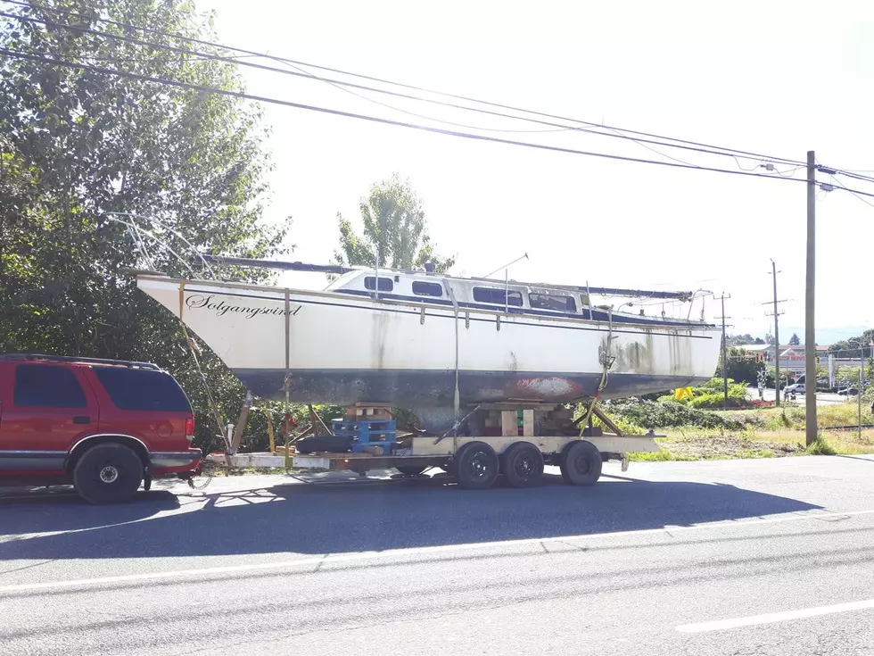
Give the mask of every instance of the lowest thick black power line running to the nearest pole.
POLYGON ((526 141, 517 141, 515 139, 505 139, 500 137, 488 137, 485 135, 477 135, 469 132, 459 132, 458 130, 449 130, 442 128, 434 128, 432 126, 419 125, 417 123, 408 123, 400 120, 392 120, 392 119, 383 119, 377 116, 370 116, 367 114, 359 114, 355 112, 343 112, 342 110, 336 110, 329 107, 318 107, 316 105, 310 104, 302 104, 302 103, 294 103, 289 100, 280 100, 278 98, 271 98, 263 95, 252 95, 247 94, 242 91, 233 91, 230 89, 221 89, 217 87, 204 87, 202 85, 190 84, 188 82, 181 82, 177 79, 165 79, 165 78, 154 78, 149 75, 140 75, 138 73, 130 73, 127 71, 115 71, 112 69, 106 69, 99 66, 88 66, 86 64, 81 64, 77 62, 68 62, 62 59, 55 59, 54 57, 42 57, 34 54, 21 53, 14 50, 9 50, 8 48, 0 48, 0 54, 5 54, 13 58, 17 59, 25 59, 31 62, 41 62, 47 64, 54 64, 56 66, 65 66, 67 68, 78 69, 80 71, 90 71, 94 73, 103 73, 105 75, 115 75, 121 78, 128 79, 138 79, 143 82, 154 82, 156 84, 161 84, 169 87, 179 87, 186 88, 193 91, 202 91, 206 93, 212 93, 217 95, 228 95, 235 98, 242 98, 243 100, 252 100, 260 103, 268 103, 268 104, 278 104, 286 107, 294 107, 296 109, 309 110, 310 112, 322 112, 326 114, 332 114, 334 116, 345 116, 351 119, 359 119, 359 120, 368 120, 374 123, 382 123, 383 125, 392 125, 400 128, 408 128, 408 129, 418 129, 424 132, 432 132, 434 134, 446 135, 449 137, 460 137, 466 139, 474 139, 477 141, 488 141, 496 144, 506 144, 506 145, 518 145, 526 148, 535 148, 538 150, 547 150, 554 151, 557 153, 567 153, 567 154, 579 154, 579 155, 588 155, 590 157, 603 157, 609 160, 617 160, 621 162, 639 162, 644 164, 656 164, 658 166, 668 166, 674 169, 691 169, 691 170, 705 170, 712 171, 715 173, 728 173, 730 175, 738 175, 738 176, 746 176, 752 178, 764 178, 770 180, 787 180, 791 182, 805 182, 803 179, 796 178, 774 178, 770 175, 765 175, 763 173, 752 173, 746 172, 742 170, 732 170, 732 169, 719 169, 710 166, 697 166, 697 165, 688 165, 681 164, 678 162, 659 162, 657 160, 645 160, 639 157, 628 157, 626 155, 617 155, 617 154, 607 154, 607 153, 597 153, 592 151, 584 151, 578 150, 575 148, 565 148, 557 145, 546 145, 546 144, 535 144, 526 141))

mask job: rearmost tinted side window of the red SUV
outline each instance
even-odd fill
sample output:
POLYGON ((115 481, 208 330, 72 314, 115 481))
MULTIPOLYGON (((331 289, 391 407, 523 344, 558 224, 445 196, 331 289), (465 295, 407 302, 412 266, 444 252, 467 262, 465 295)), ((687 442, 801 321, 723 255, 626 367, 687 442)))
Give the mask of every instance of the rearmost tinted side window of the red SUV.
POLYGON ((94 372, 119 410, 191 412, 186 393, 162 371, 95 367, 94 372))

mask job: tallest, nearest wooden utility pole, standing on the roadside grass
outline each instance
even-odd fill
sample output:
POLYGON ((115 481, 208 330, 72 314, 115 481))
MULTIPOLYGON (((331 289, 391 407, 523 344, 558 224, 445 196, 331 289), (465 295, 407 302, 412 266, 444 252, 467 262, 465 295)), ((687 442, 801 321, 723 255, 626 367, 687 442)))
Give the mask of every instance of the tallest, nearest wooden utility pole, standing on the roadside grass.
MULTIPOLYGON (((804 294, 804 410, 807 445, 816 441, 816 323, 813 286, 816 283, 816 157, 807 151, 807 271, 804 294), (813 385, 811 386, 811 381, 813 385)), ((861 381, 860 381, 861 384, 861 381)), ((862 392, 860 391, 860 394, 862 392)))

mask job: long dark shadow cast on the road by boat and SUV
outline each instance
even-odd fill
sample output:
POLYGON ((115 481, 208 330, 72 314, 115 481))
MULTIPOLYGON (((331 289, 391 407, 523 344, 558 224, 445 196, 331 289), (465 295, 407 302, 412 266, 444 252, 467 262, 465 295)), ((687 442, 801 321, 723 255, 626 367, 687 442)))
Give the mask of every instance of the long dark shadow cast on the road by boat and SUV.
MULTIPOLYGON (((370 486, 275 486, 125 506, 50 499, 0 507, 0 560, 383 551, 683 526, 820 508, 736 486, 602 478, 571 487, 468 491, 441 478, 370 486), (162 511, 179 511, 161 514, 162 511), (75 508, 72 506, 75 504, 75 508), (191 510, 189 511, 188 508, 191 510), (126 523, 127 522, 127 523, 126 523), (5 529, 5 530, 4 530, 5 529)), ((209 488, 206 492, 209 492, 209 488)))

